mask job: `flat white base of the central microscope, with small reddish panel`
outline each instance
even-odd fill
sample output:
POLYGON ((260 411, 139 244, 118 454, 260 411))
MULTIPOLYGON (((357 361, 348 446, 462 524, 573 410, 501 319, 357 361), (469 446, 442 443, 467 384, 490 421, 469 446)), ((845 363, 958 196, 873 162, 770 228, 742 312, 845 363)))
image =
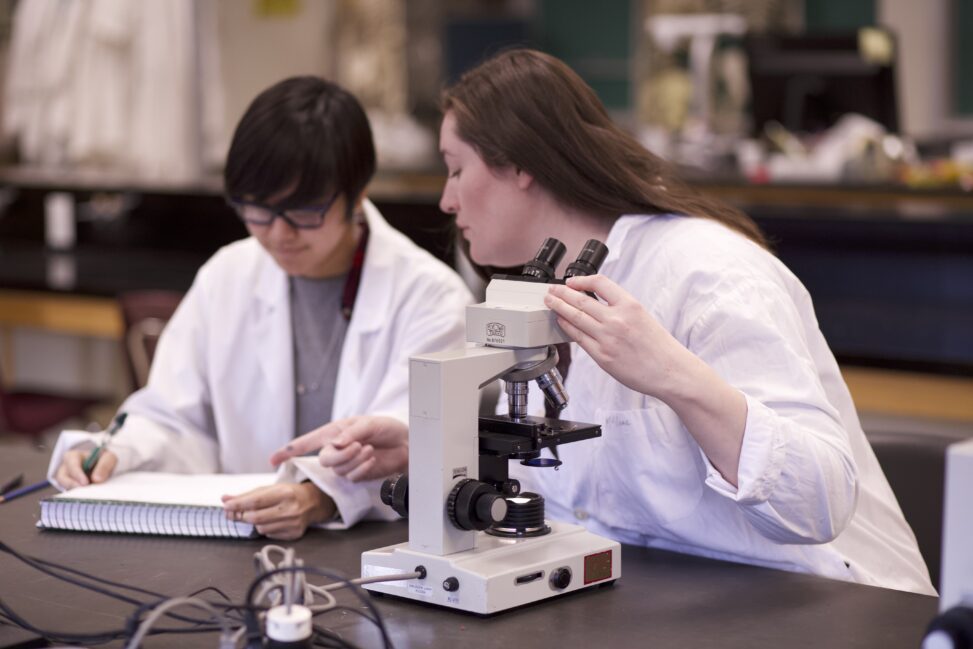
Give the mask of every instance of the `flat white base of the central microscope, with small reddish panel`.
POLYGON ((472 550, 438 556, 408 543, 362 554, 362 577, 426 569, 425 579, 368 584, 396 597, 490 614, 611 583, 622 572, 621 546, 577 525, 549 522, 544 536, 505 539, 478 532, 472 550))

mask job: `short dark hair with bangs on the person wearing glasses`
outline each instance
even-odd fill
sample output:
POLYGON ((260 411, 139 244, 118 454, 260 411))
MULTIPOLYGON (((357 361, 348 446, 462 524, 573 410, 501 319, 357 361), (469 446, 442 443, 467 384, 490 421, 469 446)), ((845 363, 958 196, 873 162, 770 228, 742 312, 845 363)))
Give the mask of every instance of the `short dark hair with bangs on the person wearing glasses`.
POLYGON ((375 174, 368 118, 344 88, 319 77, 285 79, 262 93, 237 124, 223 172, 231 200, 276 201, 282 208, 343 194, 355 199, 375 174))

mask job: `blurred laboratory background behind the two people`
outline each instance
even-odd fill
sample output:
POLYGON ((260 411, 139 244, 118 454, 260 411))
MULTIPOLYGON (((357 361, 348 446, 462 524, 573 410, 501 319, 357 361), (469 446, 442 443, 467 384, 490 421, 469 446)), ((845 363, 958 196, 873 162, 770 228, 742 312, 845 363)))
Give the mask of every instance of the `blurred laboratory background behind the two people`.
POLYGON ((221 162, 285 77, 361 99, 372 200, 462 266, 439 92, 512 45, 758 221, 866 429, 973 435, 971 33, 966 0, 0 1, 0 440, 103 425, 144 383, 200 264, 246 235, 221 162))

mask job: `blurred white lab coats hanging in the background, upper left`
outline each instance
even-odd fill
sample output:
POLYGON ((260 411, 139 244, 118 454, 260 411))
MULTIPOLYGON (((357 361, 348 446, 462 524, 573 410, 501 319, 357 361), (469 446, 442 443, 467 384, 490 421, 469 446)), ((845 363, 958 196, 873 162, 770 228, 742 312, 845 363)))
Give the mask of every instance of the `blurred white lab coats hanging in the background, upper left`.
POLYGON ((215 0, 17 4, 4 132, 41 166, 195 180, 225 158, 215 0))

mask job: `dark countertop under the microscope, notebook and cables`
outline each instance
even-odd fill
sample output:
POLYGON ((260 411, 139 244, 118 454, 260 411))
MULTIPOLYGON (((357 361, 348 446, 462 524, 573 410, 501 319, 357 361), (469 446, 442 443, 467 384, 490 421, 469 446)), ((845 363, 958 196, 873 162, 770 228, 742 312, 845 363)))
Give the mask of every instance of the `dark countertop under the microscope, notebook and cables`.
MULTIPOLYGON (((3 446, 0 476, 39 479, 46 453, 3 446)), ((240 600, 254 577, 253 553, 266 541, 39 531, 38 501, 0 505, 0 541, 38 558, 166 595, 216 586, 240 600)), ((360 553, 405 540, 404 523, 350 531, 312 530, 292 546, 307 565, 357 576, 360 553)), ((935 616, 933 597, 810 575, 625 546, 621 579, 533 605, 478 617, 390 597, 376 598, 396 647, 844 647, 919 646, 935 616)), ((76 632, 117 628, 132 607, 45 576, 0 554, 0 601, 33 623, 76 632)), ((312 579, 312 583, 322 583, 312 579)), ((213 596, 213 595, 211 595, 213 596)), ((215 596, 213 596, 215 597, 215 596)), ((339 601, 354 604, 342 591, 339 601)), ((357 604, 356 606, 360 606, 357 604)), ((320 622, 362 646, 378 634, 356 615, 320 622)), ((0 645, 16 632, 0 626, 0 645)), ((213 634, 158 636, 146 646, 210 647, 213 634)), ((120 643, 108 646, 118 647, 120 643)))

